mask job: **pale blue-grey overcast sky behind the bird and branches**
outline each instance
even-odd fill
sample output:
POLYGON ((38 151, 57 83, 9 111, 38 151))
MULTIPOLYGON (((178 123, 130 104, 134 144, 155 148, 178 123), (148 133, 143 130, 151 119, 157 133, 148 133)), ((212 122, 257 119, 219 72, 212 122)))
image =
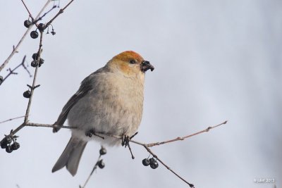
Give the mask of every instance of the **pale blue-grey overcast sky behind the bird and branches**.
MULTIPOLYGON (((36 15, 45 1, 25 1, 36 15)), ((61 7, 68 1, 61 1, 61 7)), ((55 3, 56 4, 56 3, 55 3)), ((47 8, 50 9, 53 3, 47 8)), ((282 1, 104 0, 74 1, 44 35, 45 63, 39 68, 30 121, 54 123, 84 77, 121 51, 133 50, 154 65, 146 74, 140 142, 159 142, 228 124, 181 142, 152 148, 195 187, 282 186, 282 1), (274 178, 275 183, 256 183, 274 178)), ((43 20, 47 23, 55 9, 43 20)), ((21 1, 0 3, 0 63, 25 32, 21 1)), ((38 49, 25 39, 6 68, 38 49)), ((5 76, 8 72, 1 71, 5 76)), ((29 67, 34 72, 34 68, 29 67)), ((23 92, 32 83, 23 68, 0 86, 0 121, 25 114, 23 92)), ((23 120, 0 125, 1 137, 23 120)), ((25 127, 20 149, 0 151, 0 187, 75 187, 83 184, 99 154, 87 144, 78 173, 51 173, 71 132, 25 127)), ((164 166, 142 165, 148 153, 132 144, 108 148, 106 167, 87 187, 187 187, 164 166)))

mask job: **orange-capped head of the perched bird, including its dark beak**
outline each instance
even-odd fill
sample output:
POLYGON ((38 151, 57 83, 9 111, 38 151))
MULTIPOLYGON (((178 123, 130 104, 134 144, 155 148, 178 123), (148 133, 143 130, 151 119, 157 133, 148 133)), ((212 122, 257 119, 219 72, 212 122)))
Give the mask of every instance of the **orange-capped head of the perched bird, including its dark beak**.
POLYGON ((145 61, 142 56, 134 51, 123 51, 121 54, 114 56, 108 65, 117 68, 125 76, 144 75, 147 70, 154 70, 154 66, 145 61))

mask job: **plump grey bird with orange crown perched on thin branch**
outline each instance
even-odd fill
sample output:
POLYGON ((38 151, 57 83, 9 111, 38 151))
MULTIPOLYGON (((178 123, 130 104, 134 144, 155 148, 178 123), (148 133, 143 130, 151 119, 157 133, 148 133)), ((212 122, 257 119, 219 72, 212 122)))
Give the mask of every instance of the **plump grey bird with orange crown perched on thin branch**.
POLYGON ((118 146, 121 139, 137 132, 142 119, 145 73, 154 66, 135 51, 123 51, 104 67, 82 80, 78 92, 68 100, 54 123, 58 132, 68 120, 71 139, 63 150, 52 173, 66 166, 75 176, 87 142, 96 140, 108 146, 118 146), (103 134, 92 137, 92 134, 103 134))

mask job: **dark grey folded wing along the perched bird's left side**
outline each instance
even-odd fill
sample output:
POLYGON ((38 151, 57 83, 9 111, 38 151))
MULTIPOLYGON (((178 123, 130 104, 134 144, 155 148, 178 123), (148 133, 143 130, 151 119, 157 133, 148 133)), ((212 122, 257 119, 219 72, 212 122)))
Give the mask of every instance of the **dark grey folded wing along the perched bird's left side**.
POLYGON ((85 96, 92 89, 92 84, 90 83, 92 75, 88 76, 83 80, 80 84, 80 88, 78 92, 76 92, 71 99, 68 100, 65 106, 63 106, 63 110, 59 115, 58 120, 56 120, 56 127, 53 128, 53 132, 58 132, 61 129, 61 125, 65 123, 66 118, 68 117, 68 113, 71 111, 71 108, 80 100, 83 96, 85 96))

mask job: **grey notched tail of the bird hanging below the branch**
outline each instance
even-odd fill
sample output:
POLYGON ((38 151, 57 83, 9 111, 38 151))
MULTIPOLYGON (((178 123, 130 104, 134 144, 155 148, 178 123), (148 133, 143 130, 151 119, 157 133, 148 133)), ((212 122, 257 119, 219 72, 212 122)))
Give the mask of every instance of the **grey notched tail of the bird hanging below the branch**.
POLYGON ((86 144, 87 142, 81 139, 71 137, 68 145, 66 145, 66 149, 63 150, 60 158, 52 168, 52 173, 66 166, 68 172, 70 172, 71 175, 74 176, 78 171, 80 157, 83 153, 83 150, 85 149, 86 144))

